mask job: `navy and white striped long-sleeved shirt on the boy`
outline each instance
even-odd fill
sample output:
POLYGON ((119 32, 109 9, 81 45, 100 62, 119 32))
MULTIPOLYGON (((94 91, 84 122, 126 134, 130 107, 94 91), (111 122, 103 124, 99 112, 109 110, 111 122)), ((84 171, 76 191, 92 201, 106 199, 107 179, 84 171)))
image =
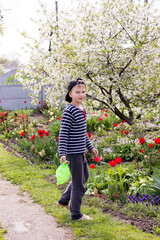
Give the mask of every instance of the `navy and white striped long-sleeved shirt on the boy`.
POLYGON ((93 149, 86 128, 85 109, 68 104, 63 111, 59 133, 59 155, 85 153, 93 149))

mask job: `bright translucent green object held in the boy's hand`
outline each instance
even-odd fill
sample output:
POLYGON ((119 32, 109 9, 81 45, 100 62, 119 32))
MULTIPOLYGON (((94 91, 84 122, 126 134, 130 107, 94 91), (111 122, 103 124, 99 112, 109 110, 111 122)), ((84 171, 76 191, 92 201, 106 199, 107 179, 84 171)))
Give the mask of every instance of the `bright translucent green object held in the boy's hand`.
POLYGON ((68 163, 63 162, 56 170, 57 185, 65 183, 70 177, 68 163))

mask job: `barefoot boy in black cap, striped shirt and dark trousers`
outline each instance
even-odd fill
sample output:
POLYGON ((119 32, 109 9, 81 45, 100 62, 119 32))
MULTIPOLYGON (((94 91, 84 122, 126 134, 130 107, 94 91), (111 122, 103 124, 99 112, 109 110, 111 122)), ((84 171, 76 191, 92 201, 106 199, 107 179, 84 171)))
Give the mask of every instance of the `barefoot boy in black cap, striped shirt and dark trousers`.
POLYGON ((98 155, 98 150, 92 146, 87 135, 86 112, 81 105, 85 96, 84 81, 81 78, 70 81, 66 95, 66 101, 70 104, 63 111, 59 134, 60 163, 69 163, 72 181, 57 204, 70 209, 72 220, 92 220, 82 214, 80 209, 85 194, 85 182, 89 177, 85 158, 86 147, 95 157, 98 155))

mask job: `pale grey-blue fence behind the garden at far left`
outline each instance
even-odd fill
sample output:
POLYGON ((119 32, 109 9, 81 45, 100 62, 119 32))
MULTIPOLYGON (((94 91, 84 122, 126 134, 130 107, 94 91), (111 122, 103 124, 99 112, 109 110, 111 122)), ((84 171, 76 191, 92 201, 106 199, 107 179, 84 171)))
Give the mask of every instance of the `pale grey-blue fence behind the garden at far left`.
MULTIPOLYGON (((37 105, 31 104, 31 97, 28 95, 30 90, 23 90, 23 86, 15 78, 17 69, 11 70, 3 75, 0 75, 0 107, 4 110, 16 110, 32 108, 36 109, 37 105)), ((43 102, 43 89, 39 101, 43 102)))

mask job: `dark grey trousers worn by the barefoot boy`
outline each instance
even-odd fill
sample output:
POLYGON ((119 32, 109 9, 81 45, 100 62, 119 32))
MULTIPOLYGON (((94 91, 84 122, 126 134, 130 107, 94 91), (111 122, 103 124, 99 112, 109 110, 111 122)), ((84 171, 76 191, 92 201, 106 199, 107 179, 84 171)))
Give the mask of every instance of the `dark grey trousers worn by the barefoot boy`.
POLYGON ((88 164, 85 154, 68 154, 69 168, 72 181, 58 201, 61 205, 68 205, 70 201, 70 212, 72 220, 83 216, 81 213, 82 197, 85 194, 85 183, 89 177, 88 164))

